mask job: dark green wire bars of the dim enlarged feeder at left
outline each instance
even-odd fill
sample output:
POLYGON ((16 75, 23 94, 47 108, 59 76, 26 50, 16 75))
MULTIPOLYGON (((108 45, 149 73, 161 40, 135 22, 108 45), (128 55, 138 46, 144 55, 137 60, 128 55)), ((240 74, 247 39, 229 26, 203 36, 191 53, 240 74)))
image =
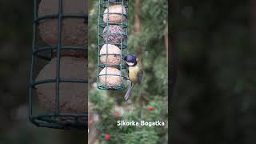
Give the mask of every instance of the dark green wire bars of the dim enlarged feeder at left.
MULTIPOLYGON (((60 78, 60 61, 61 61, 61 50, 82 50, 86 52, 87 43, 85 46, 62 46, 62 21, 65 18, 82 18, 84 22, 88 24, 88 15, 87 14, 63 14, 62 1, 58 0, 58 14, 46 14, 38 16, 38 1, 34 0, 34 21, 33 21, 33 42, 32 42, 32 57, 31 57, 31 66, 30 66, 30 91, 29 91, 29 119, 30 122, 39 127, 48 127, 54 129, 80 129, 85 130, 87 126, 87 112, 85 114, 62 114, 59 108, 59 85, 61 82, 75 82, 75 83, 88 83, 88 79, 64 79, 60 78), (57 46, 38 46, 38 25, 39 22, 46 19, 58 19, 58 44, 57 46), (35 58, 41 58, 46 61, 50 61, 53 58, 53 50, 57 50, 57 66, 56 66, 56 77, 54 79, 45 79, 42 81, 35 81, 33 78, 34 75, 34 66, 35 58), (41 54, 42 52, 51 52, 51 56, 46 56, 41 54), (55 110, 54 113, 46 114, 34 114, 34 96, 33 90, 35 86, 46 84, 46 83, 55 83, 55 110), (72 118, 74 122, 65 123, 56 120, 56 118, 72 118)), ((86 35, 86 34, 85 34, 86 35)))

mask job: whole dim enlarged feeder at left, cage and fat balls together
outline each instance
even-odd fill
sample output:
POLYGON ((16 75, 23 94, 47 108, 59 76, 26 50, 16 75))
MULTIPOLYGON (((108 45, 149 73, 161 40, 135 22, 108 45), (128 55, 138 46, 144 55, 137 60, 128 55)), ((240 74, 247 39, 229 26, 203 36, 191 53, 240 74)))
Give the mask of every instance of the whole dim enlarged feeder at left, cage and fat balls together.
POLYGON ((87 0, 34 0, 30 122, 87 127, 87 0))

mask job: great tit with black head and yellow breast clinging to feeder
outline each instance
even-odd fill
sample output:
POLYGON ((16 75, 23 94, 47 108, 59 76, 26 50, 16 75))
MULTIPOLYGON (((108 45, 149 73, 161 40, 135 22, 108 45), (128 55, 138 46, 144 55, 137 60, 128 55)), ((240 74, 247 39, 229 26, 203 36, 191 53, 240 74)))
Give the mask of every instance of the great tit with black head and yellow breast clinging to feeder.
POLYGON ((131 90, 133 90, 136 83, 142 82, 143 66, 141 59, 138 59, 134 54, 127 54, 123 58, 126 62, 126 68, 128 69, 128 78, 130 80, 130 86, 126 91, 125 99, 128 100, 131 90))

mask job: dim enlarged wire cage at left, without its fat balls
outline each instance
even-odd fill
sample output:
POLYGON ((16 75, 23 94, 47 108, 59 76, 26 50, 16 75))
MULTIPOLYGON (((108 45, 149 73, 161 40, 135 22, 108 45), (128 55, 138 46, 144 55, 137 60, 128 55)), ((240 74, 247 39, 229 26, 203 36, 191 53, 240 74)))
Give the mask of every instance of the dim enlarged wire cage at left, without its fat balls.
MULTIPOLYGON (((43 1, 43 0, 42 0, 43 1)), ((41 1, 41 2, 42 2, 41 1)), ((86 130, 87 127, 87 112, 84 111, 82 114, 71 113, 66 114, 62 113, 60 110, 60 84, 61 83, 79 83, 85 84, 88 83, 88 80, 85 79, 69 79, 69 78, 61 78, 60 75, 60 63, 62 61, 62 52, 64 50, 73 50, 78 53, 84 54, 86 58, 87 53, 87 42, 85 42, 82 46, 66 46, 62 44, 62 25, 63 20, 66 18, 78 18, 82 20, 85 26, 88 24, 88 16, 86 13, 79 14, 64 14, 63 13, 63 1, 58 0, 58 13, 57 14, 45 14, 38 16, 38 7, 39 0, 34 0, 34 21, 33 21, 33 42, 32 42, 32 54, 31 54, 31 67, 30 67, 30 94, 29 94, 29 118, 30 122, 34 123, 39 127, 49 127, 56 129, 82 129, 86 130), (54 46, 40 46, 40 37, 38 34, 38 26, 40 22, 45 20, 56 20, 58 25, 58 42, 54 46), (56 68, 52 73, 55 74, 54 78, 43 79, 40 81, 35 80, 34 75, 36 74, 36 68, 38 62, 50 62, 52 58, 56 59, 56 68), (50 84, 54 83, 54 110, 52 111, 44 111, 39 112, 38 110, 40 106, 38 106, 38 102, 36 102, 36 87, 42 84, 50 84)), ((81 0, 85 1, 85 0, 81 0)), ((85 2, 86 3, 86 2, 85 2)), ((87 4, 85 5, 87 6, 87 4)), ((85 34, 86 37, 87 34, 85 34)), ((85 87, 86 89, 86 87, 85 87)), ((84 96, 86 98, 86 95, 84 96)), ((86 102, 87 105, 87 102, 86 102)))

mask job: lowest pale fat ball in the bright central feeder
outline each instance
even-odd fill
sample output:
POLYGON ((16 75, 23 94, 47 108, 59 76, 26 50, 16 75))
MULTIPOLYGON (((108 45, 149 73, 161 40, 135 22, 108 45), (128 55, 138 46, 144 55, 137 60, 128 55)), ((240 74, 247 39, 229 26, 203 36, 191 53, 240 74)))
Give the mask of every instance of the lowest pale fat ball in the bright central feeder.
POLYGON ((105 67, 99 75, 99 81, 102 85, 110 85, 107 88, 114 88, 114 86, 121 85, 122 77, 120 77, 120 70, 117 68, 105 67))

